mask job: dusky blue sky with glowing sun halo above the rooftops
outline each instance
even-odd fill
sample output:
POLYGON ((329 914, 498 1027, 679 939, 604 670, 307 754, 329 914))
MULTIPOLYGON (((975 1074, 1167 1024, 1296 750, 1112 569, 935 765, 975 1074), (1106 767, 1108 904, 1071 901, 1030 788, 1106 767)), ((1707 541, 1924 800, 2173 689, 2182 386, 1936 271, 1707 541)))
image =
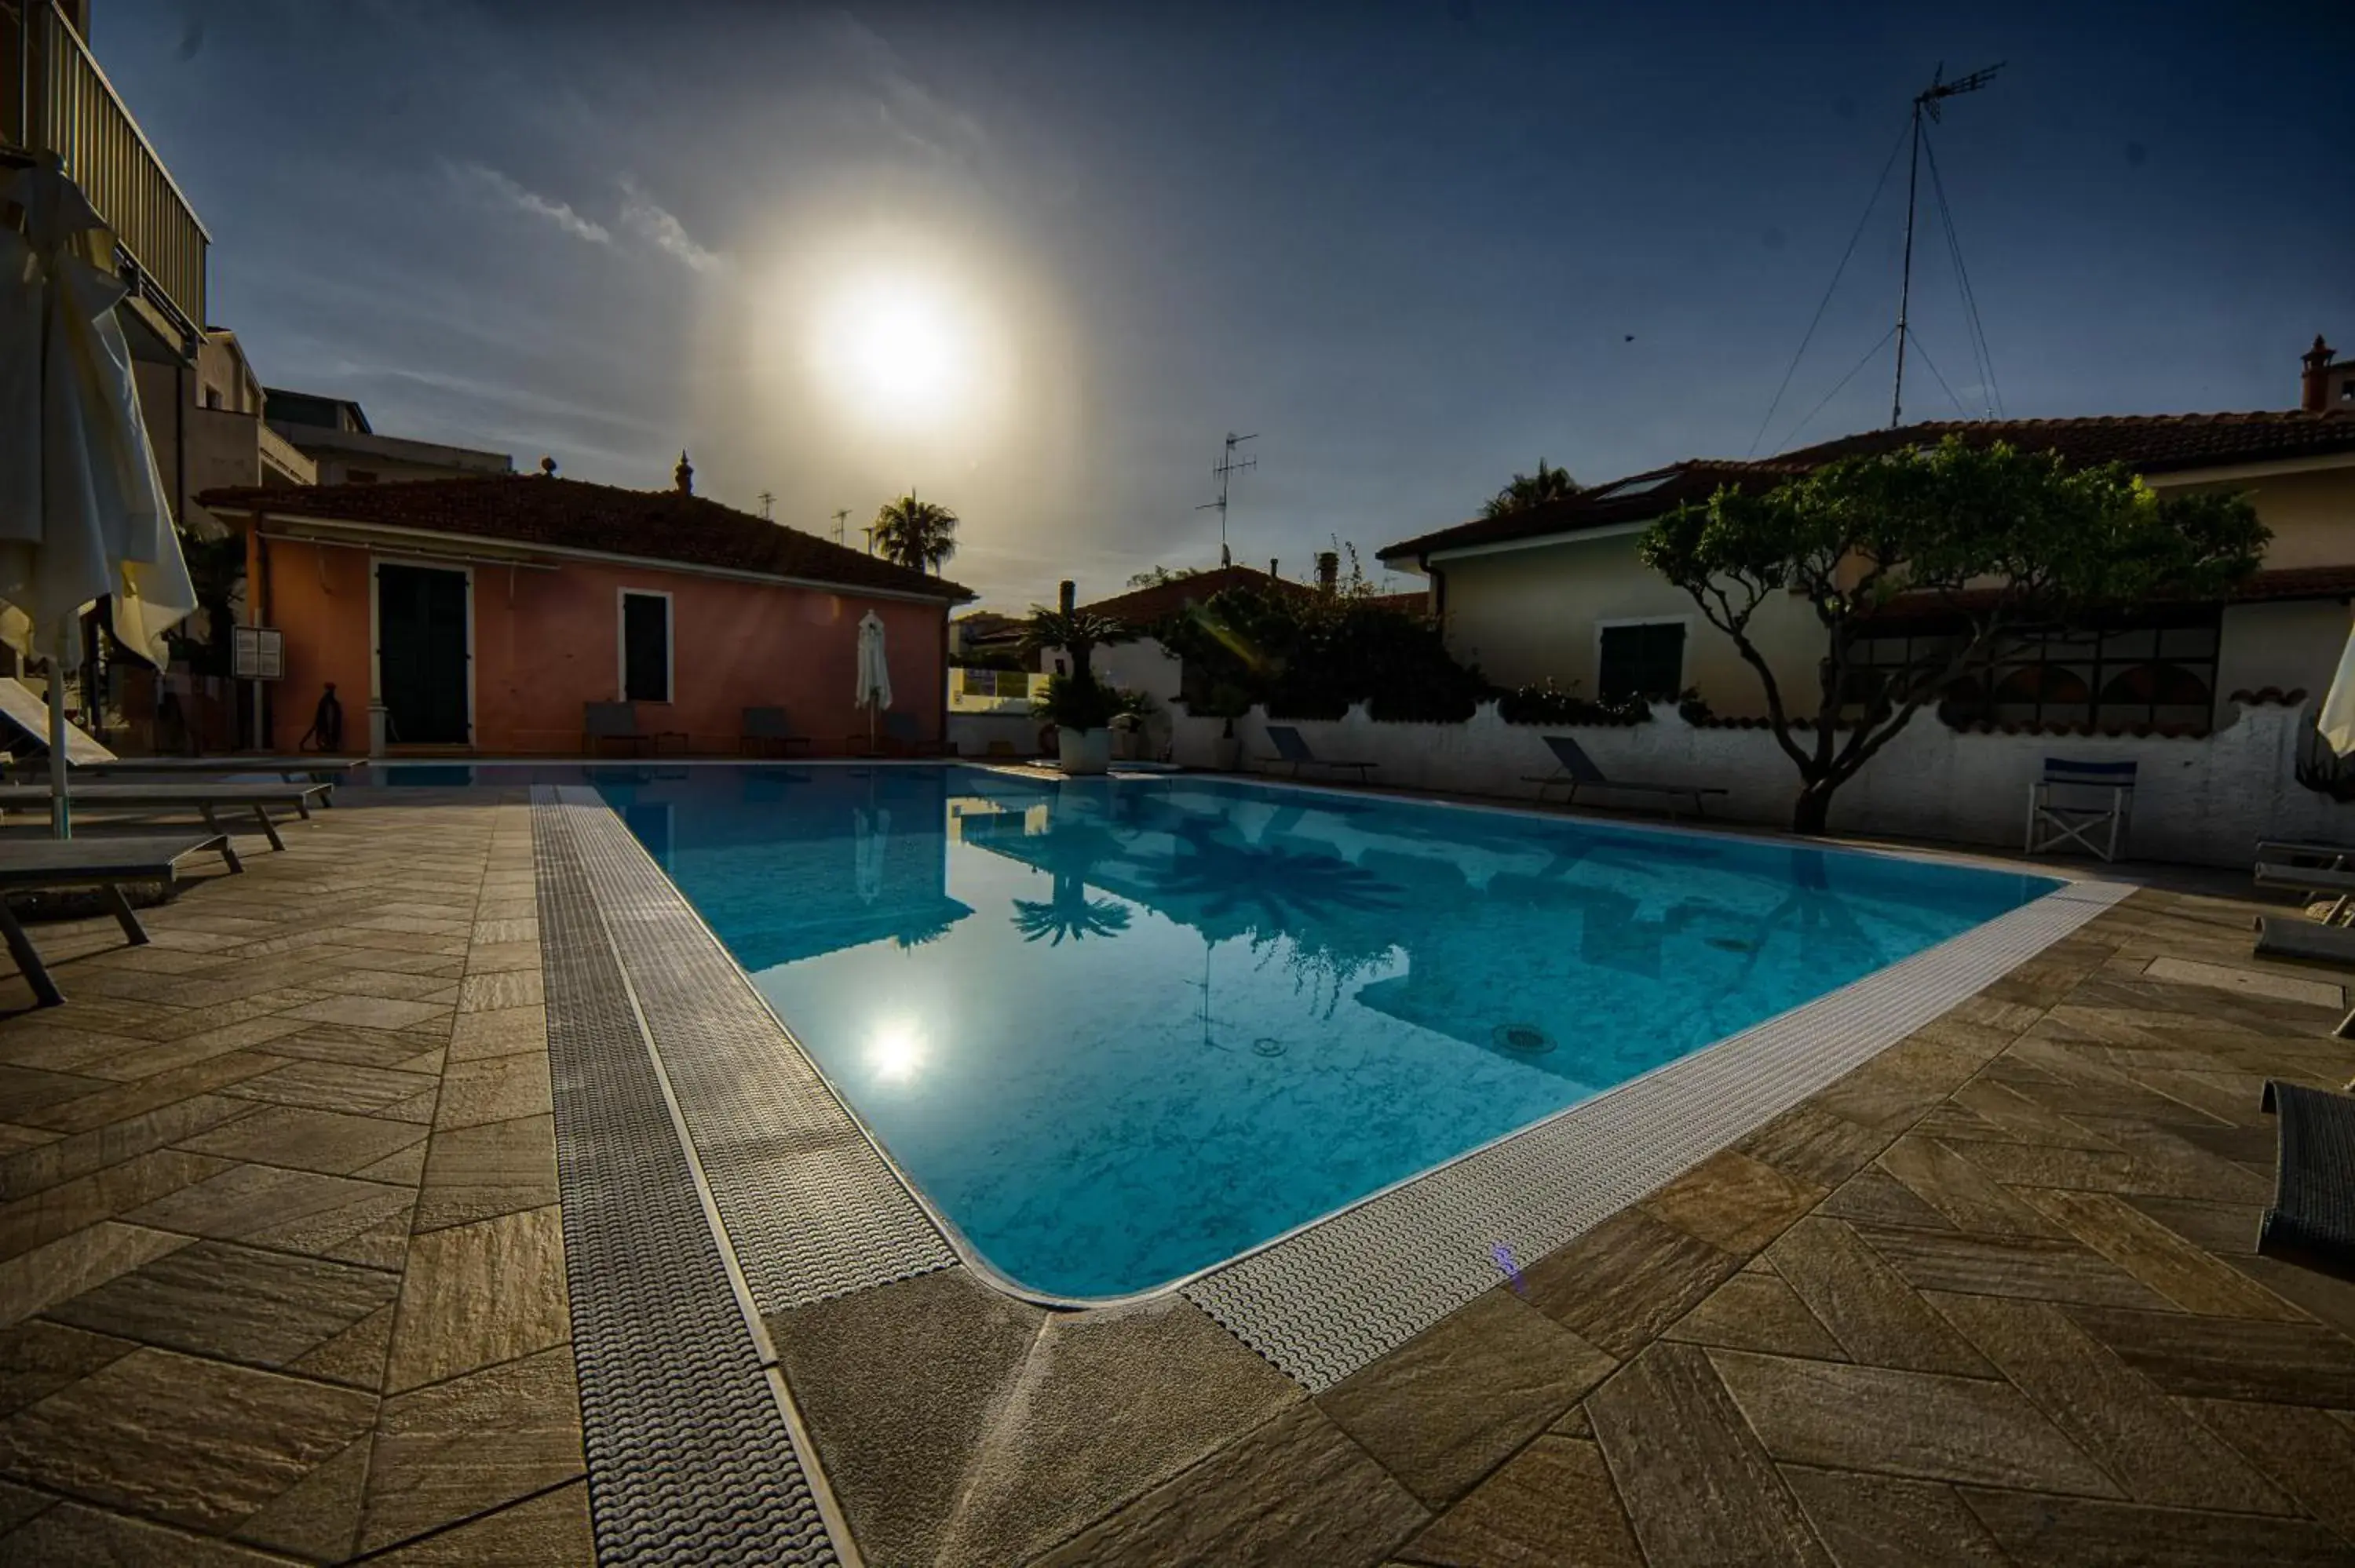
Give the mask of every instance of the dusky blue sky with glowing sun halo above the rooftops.
MULTIPOLYGON (((92 42, 266 381, 601 483, 685 445, 812 530, 916 485, 1006 607, 1213 563, 1229 428, 1286 572, 1540 454, 1750 452, 1941 61, 2009 61, 1933 132, 2004 412, 2287 407, 2355 353, 2355 7, 1780 9, 97 0, 92 42), (812 346, 867 280, 958 344, 928 421, 812 346)), ((1889 419, 1882 348, 1792 428, 1889 330, 1903 174, 1762 452, 1889 419)), ((1945 254, 1910 419, 1988 398, 1945 254)))

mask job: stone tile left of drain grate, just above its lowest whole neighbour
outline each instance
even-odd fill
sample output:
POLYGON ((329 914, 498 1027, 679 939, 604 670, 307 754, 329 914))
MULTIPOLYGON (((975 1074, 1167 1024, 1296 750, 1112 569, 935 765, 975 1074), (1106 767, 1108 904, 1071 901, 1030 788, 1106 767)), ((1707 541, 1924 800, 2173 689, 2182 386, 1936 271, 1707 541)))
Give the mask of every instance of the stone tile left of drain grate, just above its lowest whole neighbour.
POLYGON ((386 1389, 414 1389, 568 1337, 556 1205, 426 1231, 410 1243, 386 1389))

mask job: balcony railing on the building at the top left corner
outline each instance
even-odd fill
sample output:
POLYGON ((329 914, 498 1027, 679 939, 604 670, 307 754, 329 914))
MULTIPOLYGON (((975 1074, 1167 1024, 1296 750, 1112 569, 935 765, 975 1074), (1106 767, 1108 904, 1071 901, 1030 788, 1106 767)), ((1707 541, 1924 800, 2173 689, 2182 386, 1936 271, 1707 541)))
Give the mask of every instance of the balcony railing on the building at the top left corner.
POLYGON ((205 325, 212 235, 57 0, 0 2, 0 134, 19 153, 64 160, 115 231, 115 261, 132 292, 193 346, 205 325))

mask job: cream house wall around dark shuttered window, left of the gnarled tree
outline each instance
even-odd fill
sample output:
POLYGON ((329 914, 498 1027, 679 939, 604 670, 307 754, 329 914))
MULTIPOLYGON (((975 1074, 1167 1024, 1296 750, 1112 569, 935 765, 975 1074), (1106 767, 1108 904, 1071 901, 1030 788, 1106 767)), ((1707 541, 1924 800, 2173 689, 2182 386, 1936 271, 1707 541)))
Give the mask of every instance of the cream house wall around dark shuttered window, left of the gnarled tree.
MULTIPOLYGON (((1434 563, 1446 574, 1446 640, 1460 664, 1498 685, 1535 685, 1597 697, 1606 622, 1684 622, 1684 685, 1726 716, 1757 716, 1766 697, 1733 640, 1700 617, 1693 598, 1634 556, 1637 534, 1495 551, 1434 563)), ((1785 699, 1813 706, 1820 629, 1799 598, 1759 607, 1752 640, 1776 666, 1785 699)))

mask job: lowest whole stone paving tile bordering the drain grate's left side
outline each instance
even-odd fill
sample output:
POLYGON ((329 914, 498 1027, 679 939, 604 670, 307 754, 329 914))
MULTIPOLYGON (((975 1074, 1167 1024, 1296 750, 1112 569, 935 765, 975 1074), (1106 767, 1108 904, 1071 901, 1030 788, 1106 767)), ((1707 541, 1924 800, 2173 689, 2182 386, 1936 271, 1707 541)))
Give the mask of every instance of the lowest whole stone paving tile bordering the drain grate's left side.
POLYGON ((584 1474, 572 1351, 384 1401, 360 1549, 374 1552, 584 1474))

